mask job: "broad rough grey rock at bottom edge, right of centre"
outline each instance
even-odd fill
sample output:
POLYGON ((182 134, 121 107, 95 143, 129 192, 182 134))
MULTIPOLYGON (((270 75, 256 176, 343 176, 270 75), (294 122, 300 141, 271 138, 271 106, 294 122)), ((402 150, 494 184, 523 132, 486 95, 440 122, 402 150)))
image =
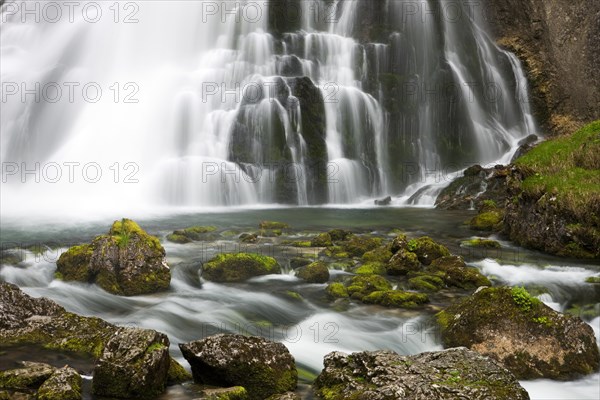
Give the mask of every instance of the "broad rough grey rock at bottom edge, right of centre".
POLYGON ((529 399, 509 371, 465 348, 415 356, 333 352, 324 363, 314 384, 321 399, 529 399))

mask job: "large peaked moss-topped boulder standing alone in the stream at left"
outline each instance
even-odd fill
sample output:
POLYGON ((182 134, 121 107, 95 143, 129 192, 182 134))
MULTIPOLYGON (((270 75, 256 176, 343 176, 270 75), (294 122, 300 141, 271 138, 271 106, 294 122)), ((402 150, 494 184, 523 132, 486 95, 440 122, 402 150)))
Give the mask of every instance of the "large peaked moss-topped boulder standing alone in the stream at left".
POLYGON ((114 294, 133 296, 166 290, 171 272, 165 249, 135 222, 115 221, 108 235, 74 246, 58 259, 57 275, 65 281, 96 283, 114 294))

